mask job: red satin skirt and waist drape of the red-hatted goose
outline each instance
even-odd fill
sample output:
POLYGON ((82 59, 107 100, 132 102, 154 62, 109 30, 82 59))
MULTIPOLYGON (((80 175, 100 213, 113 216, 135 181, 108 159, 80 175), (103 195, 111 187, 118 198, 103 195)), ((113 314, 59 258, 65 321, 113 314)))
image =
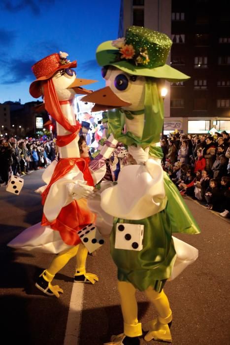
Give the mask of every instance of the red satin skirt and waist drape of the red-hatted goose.
MULTIPOLYGON (((62 158, 58 161, 50 183, 42 193, 42 205, 44 205, 47 194, 53 183, 69 173, 76 165, 83 173, 87 185, 94 186, 93 177, 89 171, 88 164, 90 158, 62 158)), ((62 240, 68 245, 77 245, 81 242, 77 232, 86 225, 95 222, 96 215, 87 207, 86 199, 74 200, 63 207, 58 217, 49 222, 43 213, 41 225, 49 225, 53 230, 60 232, 62 240)))

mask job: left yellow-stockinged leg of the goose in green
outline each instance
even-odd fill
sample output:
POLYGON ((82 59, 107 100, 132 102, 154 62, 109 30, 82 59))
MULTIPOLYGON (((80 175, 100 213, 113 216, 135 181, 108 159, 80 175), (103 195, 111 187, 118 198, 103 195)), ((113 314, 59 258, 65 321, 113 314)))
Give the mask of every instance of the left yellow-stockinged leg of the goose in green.
POLYGON ((137 319, 136 289, 129 282, 118 281, 118 291, 121 298, 124 334, 128 337, 141 336, 141 323, 138 323, 137 319))

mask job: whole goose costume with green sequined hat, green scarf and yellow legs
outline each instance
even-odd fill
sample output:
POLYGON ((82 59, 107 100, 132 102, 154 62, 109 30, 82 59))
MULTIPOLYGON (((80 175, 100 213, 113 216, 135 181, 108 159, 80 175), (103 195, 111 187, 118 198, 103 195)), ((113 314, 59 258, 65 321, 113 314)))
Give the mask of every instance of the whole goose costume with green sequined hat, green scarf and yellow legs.
POLYGON ((136 161, 124 167, 117 184, 100 195, 101 209, 114 217, 111 255, 118 267, 124 319, 124 333, 106 344, 138 345, 142 329, 148 331, 146 341, 171 342, 172 313, 163 287, 173 276, 178 259, 175 247, 179 240, 172 233, 200 232, 161 167, 163 154, 159 140, 164 122, 161 80, 189 79, 165 64, 171 44, 166 35, 135 26, 128 28, 126 37, 100 44, 97 61, 103 67, 106 87, 83 98, 95 103, 93 111, 111 109, 108 111, 111 133, 128 147, 136 161), (137 319, 136 289, 145 291, 159 314, 142 326, 137 319))

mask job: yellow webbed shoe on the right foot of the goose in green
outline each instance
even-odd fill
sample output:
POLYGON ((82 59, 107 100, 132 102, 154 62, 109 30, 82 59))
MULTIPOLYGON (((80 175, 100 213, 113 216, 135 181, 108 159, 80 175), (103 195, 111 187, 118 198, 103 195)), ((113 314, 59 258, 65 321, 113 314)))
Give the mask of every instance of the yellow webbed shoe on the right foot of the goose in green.
POLYGON ((152 339, 154 339, 171 343, 172 337, 169 326, 171 326, 171 322, 169 324, 164 324, 161 323, 158 318, 147 322, 146 324, 142 325, 143 331, 148 331, 144 337, 144 340, 146 342, 150 342, 152 339))

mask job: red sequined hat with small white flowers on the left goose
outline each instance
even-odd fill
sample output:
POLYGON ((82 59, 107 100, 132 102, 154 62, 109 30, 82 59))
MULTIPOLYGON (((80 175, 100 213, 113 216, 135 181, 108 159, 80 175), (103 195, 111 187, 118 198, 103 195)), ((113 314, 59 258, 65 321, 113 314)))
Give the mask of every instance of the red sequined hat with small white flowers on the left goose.
POLYGON ((33 96, 34 98, 38 98, 42 95, 40 89, 41 80, 47 80, 51 78, 54 73, 56 73, 60 69, 71 69, 77 67, 77 62, 70 62, 66 59, 66 56, 68 56, 68 54, 66 53, 54 53, 46 56, 32 66, 32 70, 36 77, 36 80, 34 80, 30 86, 31 96, 33 96))

